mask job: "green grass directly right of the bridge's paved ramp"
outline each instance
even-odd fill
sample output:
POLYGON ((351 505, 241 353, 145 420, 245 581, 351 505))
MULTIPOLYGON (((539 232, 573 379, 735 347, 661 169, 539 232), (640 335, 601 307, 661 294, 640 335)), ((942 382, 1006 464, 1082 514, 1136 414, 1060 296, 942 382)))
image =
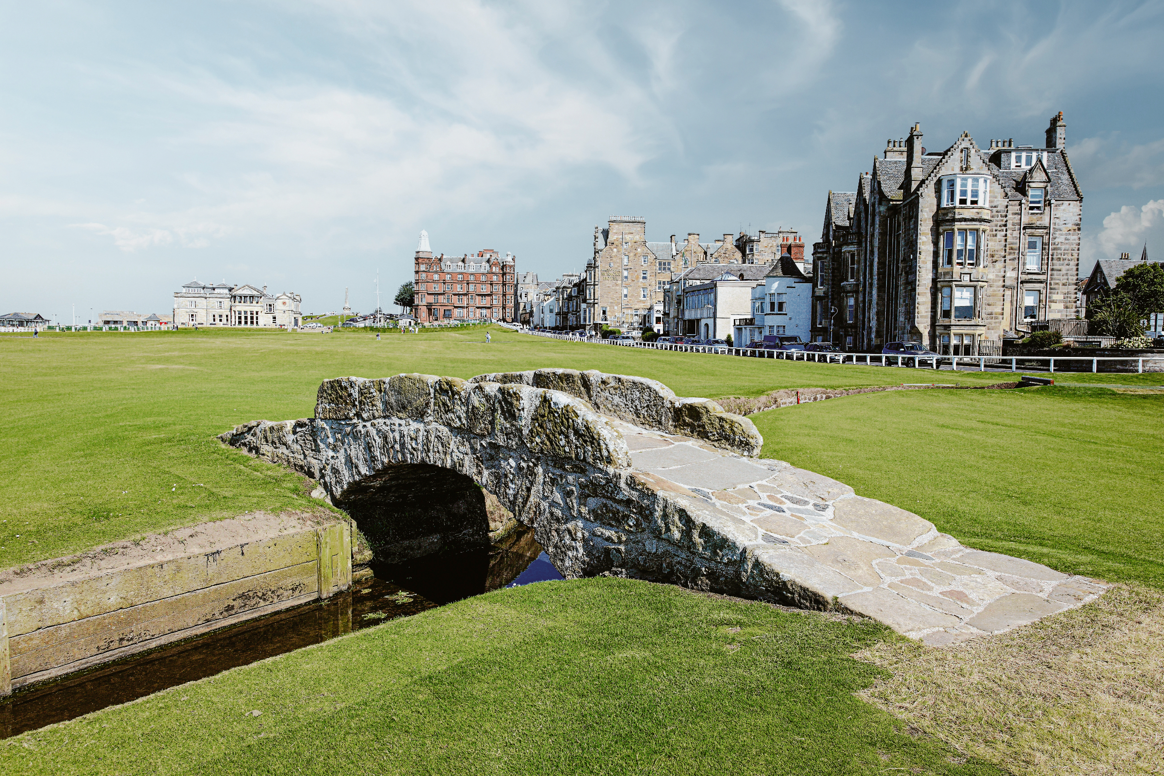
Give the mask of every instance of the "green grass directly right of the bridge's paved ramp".
POLYGON ((980 549, 1164 588, 1164 396, 897 391, 752 415, 764 454, 980 549))

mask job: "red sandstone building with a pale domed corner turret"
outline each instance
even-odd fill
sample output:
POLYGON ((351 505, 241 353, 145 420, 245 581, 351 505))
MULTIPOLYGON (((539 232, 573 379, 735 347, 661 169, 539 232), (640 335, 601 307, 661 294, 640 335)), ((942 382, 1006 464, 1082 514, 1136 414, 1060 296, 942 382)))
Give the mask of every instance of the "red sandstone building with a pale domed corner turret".
POLYGON ((517 259, 491 248, 469 256, 433 256, 420 233, 413 257, 412 314, 421 322, 518 320, 517 259))

